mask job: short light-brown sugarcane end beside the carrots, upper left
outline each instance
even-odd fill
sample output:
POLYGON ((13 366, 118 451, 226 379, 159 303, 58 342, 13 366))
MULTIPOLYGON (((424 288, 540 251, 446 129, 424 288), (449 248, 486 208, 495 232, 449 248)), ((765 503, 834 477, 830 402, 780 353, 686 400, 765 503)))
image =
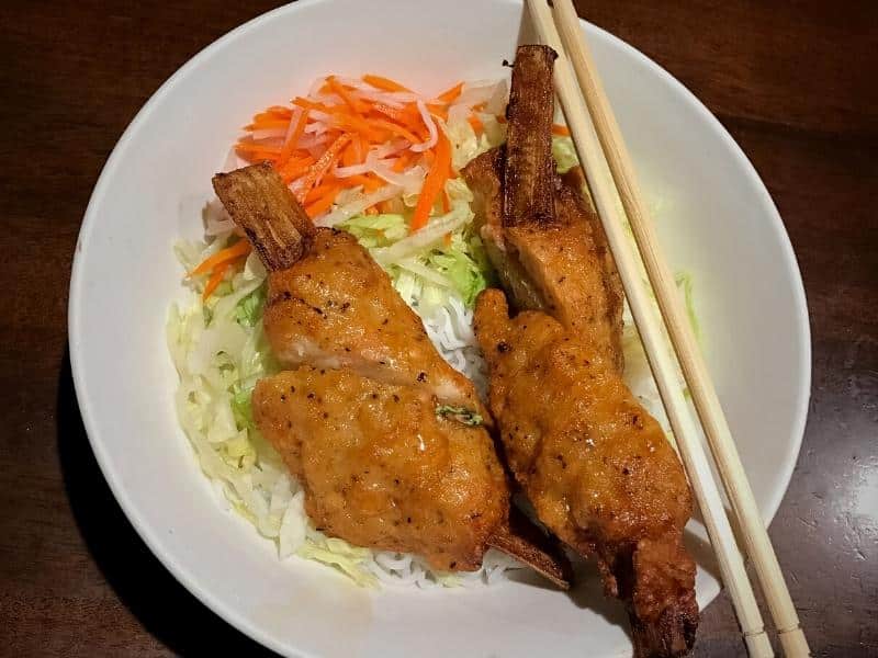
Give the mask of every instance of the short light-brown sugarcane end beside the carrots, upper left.
POLYGON ((271 164, 217 173, 213 189, 266 268, 285 270, 302 258, 314 225, 271 164))

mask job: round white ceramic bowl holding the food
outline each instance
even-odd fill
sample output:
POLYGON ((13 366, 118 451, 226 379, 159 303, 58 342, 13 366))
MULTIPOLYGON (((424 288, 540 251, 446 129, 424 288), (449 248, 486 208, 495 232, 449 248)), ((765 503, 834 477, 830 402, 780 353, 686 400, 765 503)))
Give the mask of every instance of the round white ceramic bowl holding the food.
MULTIPOLYGON (((282 654, 630 650, 621 609, 603 600, 597 578, 572 597, 521 582, 371 592, 314 563, 280 563, 272 544, 223 509, 175 419, 164 329, 179 290, 171 243, 199 234, 199 207, 239 126, 328 72, 380 72, 424 91, 502 76, 520 18, 521 4, 504 0, 305 0, 273 11, 171 77, 132 122, 94 189, 69 316, 94 453, 168 569, 282 654)), ((663 246, 676 268, 695 273, 709 365, 767 522, 799 451, 810 385, 792 250, 756 172, 713 116, 643 55, 594 26, 586 31, 645 191, 660 202, 663 246)), ((703 568, 697 590, 702 606, 719 591, 703 568)))

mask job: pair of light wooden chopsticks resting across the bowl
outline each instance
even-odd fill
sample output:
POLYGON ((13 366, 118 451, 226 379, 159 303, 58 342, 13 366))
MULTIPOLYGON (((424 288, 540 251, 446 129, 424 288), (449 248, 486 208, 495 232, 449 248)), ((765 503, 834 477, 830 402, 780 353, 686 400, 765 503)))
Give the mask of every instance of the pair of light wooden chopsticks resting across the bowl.
POLYGON ((576 10, 571 0, 554 0, 553 8, 549 7, 547 0, 527 0, 527 7, 540 41, 559 55, 554 73, 555 92, 616 259, 680 457, 705 518, 747 651, 754 657, 774 656, 717 483, 713 480, 695 421, 677 384, 676 367, 666 349, 664 329, 671 338, 691 394, 725 494, 741 529, 746 553, 753 561, 774 619, 783 651, 786 656, 796 658, 809 656, 808 643, 799 626, 784 575, 759 518, 756 500, 679 299, 674 277, 660 250, 630 156, 585 43, 576 10), (662 317, 655 313, 646 286, 641 280, 638 254, 626 236, 624 217, 618 211, 617 194, 634 235, 637 250, 662 317))

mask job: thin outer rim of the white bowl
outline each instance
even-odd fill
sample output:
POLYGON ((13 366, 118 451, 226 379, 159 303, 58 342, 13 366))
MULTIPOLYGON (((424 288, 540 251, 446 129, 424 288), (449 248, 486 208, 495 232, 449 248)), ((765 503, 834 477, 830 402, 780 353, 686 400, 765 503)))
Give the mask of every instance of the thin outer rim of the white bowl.
MULTIPOLYGON (((222 35, 221 37, 218 37, 217 39, 213 41, 211 44, 202 48, 199 53, 196 53, 188 61, 185 61, 180 68, 178 68, 149 97, 146 103, 144 103, 144 105, 131 121, 128 126, 125 128, 120 139, 116 141, 112 152, 106 159, 106 162, 101 169, 101 173, 92 190, 88 206, 86 208, 86 213, 83 215, 82 224, 79 229, 79 235, 77 237, 76 250, 74 254, 72 270, 70 276, 69 298, 68 298, 68 349, 69 349, 70 364, 71 364, 71 372, 74 379, 74 388, 77 396, 80 416, 82 417, 82 422, 89 438, 89 443, 91 444, 91 449, 92 452, 94 453, 98 465, 100 466, 101 472, 111 491, 113 492, 113 496, 115 497, 116 501, 119 502, 120 507, 125 513, 125 517, 128 519, 128 521, 131 522, 131 524, 133 525, 134 530, 137 532, 139 537, 149 547, 149 551, 153 553, 153 555, 155 555, 156 558, 158 558, 158 560, 162 564, 162 566, 177 579, 177 581, 180 582, 187 590, 189 590, 189 592, 191 592, 199 601, 201 601, 201 603, 203 603, 211 611, 217 614, 226 623, 230 624, 238 631, 248 635, 254 640, 260 643, 261 645, 281 655, 289 655, 291 647, 275 639, 271 634, 264 632, 258 624, 251 623, 234 606, 228 605, 225 601, 216 599, 212 594, 210 594, 206 590, 204 590, 201 587, 198 579, 194 576, 192 576, 190 571, 182 564, 180 564, 173 555, 171 555, 170 553, 166 553, 164 551, 161 542, 158 538, 158 533, 156 529, 150 527, 149 524, 144 521, 138 506, 135 502, 133 502, 133 500, 128 497, 127 491, 122 481, 120 480, 117 474, 110 467, 110 457, 108 451, 104 449, 105 442, 102 438, 102 432, 100 430, 98 413, 95 413, 95 411, 93 410, 94 406, 93 400, 91 400, 89 397, 85 363, 82 356, 79 353, 79 348, 78 348, 79 343, 78 338, 80 336, 80 331, 78 329, 80 325, 80 305, 81 305, 81 298, 86 295, 86 288, 83 287, 82 283, 82 269, 83 269, 83 262, 86 260, 85 245, 88 242, 89 237, 94 230, 94 226, 97 224, 97 216, 99 215, 99 208, 102 205, 103 198, 108 193, 108 189, 110 188, 110 181, 114 177, 114 173, 119 168, 120 162, 122 161, 123 154, 127 151, 130 143, 134 139, 134 136, 138 132, 138 128, 146 121, 146 117, 153 112, 154 107, 156 107, 159 103, 161 103, 164 98, 167 94, 169 94, 170 91, 178 83, 184 80, 190 75, 191 71, 196 69, 202 64, 202 61, 210 59, 216 52, 221 50, 222 48, 226 47, 233 42, 246 36, 249 32, 257 30, 263 23, 271 22, 277 18, 288 13, 295 13, 311 5, 322 4, 331 1, 333 0, 299 0, 297 2, 279 7, 271 11, 264 12, 258 16, 255 16, 254 19, 250 19, 249 21, 233 29, 232 31, 227 32, 226 34, 222 35)), ((500 0, 500 1, 506 4, 522 7, 521 0, 500 0)), ((765 183, 759 178, 755 167, 746 157, 743 149, 732 138, 732 136, 729 134, 725 127, 698 100, 698 98, 686 86, 684 86, 679 80, 677 80, 673 75, 671 75, 667 70, 665 70, 663 67, 656 64, 653 59, 641 53, 634 46, 628 44, 627 42, 607 32, 606 30, 593 23, 588 23, 583 19, 579 19, 579 23, 583 27, 589 30, 593 34, 597 35, 599 38, 604 38, 607 42, 609 42, 614 47, 626 50, 628 55, 631 55, 638 61, 638 64, 640 64, 641 66, 645 66, 652 73, 657 75, 660 78, 662 78, 663 81, 666 84, 669 84, 687 104, 691 105, 698 114, 700 114, 703 118, 707 120, 708 124, 711 125, 713 131, 719 135, 724 145, 728 147, 729 151, 734 156, 734 159, 738 160, 738 163, 743 167, 746 177, 750 179, 751 183, 753 183, 753 188, 757 192, 759 201, 765 207, 767 214, 772 217, 770 222, 772 230, 775 232, 775 237, 778 238, 777 241, 780 245, 783 261, 788 271, 790 283, 792 284, 792 294, 795 297, 793 306, 796 308, 796 316, 797 316, 796 324, 799 330, 799 337, 801 339, 801 344, 802 344, 802 350, 799 354, 799 365, 801 367, 801 372, 803 373, 803 377, 799 381, 798 390, 796 392, 797 404, 795 408, 795 423, 793 427, 790 428, 792 431, 791 433, 792 441, 790 442, 789 450, 784 455, 785 462, 783 464, 780 472, 778 473, 778 475, 780 476, 778 479, 778 486, 775 486, 774 490, 770 492, 767 504, 765 507, 765 512, 763 513, 763 519, 767 526, 770 523, 772 519, 777 513, 780 502, 784 496, 786 495, 787 489, 789 488, 789 483, 792 478, 792 472, 796 467, 798 454, 801 450, 801 444, 804 435, 804 428, 808 418, 810 390, 811 390, 811 376, 812 376, 811 331, 810 331, 810 322, 808 315, 808 306, 806 300, 804 286, 801 279, 801 272, 799 270, 798 261, 796 259, 792 245, 789 240, 789 235, 787 234, 786 227, 783 223, 783 219, 780 218, 780 214, 778 213, 777 207, 770 194, 768 193, 765 183)), ((722 586, 720 585, 720 588, 722 586)), ((303 656, 306 658, 312 657, 311 654, 304 653, 299 648, 294 648, 294 650, 299 656, 303 656)))

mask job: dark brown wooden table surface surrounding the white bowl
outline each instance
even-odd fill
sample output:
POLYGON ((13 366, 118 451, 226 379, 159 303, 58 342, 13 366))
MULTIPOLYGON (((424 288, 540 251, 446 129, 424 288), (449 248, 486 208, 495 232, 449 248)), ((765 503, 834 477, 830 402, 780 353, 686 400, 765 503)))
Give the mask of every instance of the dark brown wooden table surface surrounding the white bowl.
MULTIPOLYGON (((127 123, 189 57, 273 4, 0 7, 0 654, 267 654, 178 585, 113 500, 74 396, 66 308, 79 224, 127 123)), ((814 377, 770 534, 815 655, 878 656, 878 5, 658 4, 581 8, 717 114, 780 208, 814 377)), ((725 595, 699 636, 698 656, 743 655, 725 595)))

